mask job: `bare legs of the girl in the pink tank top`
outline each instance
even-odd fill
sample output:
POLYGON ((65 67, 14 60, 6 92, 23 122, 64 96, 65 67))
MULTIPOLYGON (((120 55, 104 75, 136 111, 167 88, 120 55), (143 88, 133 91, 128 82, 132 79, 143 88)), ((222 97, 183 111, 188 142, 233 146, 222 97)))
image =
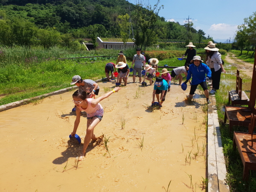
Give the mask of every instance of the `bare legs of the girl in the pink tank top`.
POLYGON ((93 117, 93 119, 87 119, 87 130, 86 130, 86 135, 84 137, 84 147, 83 150, 81 151, 81 156, 79 157, 79 160, 84 160, 85 156, 85 151, 90 143, 90 140, 96 140, 97 138, 93 134, 93 129, 98 125, 99 123, 99 118, 98 117, 93 117))

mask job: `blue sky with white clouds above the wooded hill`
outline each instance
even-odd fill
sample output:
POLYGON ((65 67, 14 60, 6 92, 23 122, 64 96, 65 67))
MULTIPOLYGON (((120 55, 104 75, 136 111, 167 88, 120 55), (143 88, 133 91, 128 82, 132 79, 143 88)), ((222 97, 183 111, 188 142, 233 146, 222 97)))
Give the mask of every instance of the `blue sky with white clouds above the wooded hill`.
MULTIPOLYGON (((128 0, 135 4, 135 0, 128 0)), ((157 0, 144 0, 151 6, 157 0)), ((160 17, 184 24, 192 18, 195 29, 202 29, 213 39, 229 39, 233 41, 238 25, 244 23, 244 18, 256 12, 256 0, 160 0, 159 6, 164 9, 160 17)), ((226 41, 227 42, 227 41, 226 41)))

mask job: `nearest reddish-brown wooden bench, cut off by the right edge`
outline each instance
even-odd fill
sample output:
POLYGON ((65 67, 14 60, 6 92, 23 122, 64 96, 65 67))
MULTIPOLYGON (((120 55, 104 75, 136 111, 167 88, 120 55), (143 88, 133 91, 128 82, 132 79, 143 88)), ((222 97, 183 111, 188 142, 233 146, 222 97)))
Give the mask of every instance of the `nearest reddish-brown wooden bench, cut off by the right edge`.
POLYGON ((250 118, 249 133, 234 131, 233 136, 233 149, 238 148, 244 165, 243 180, 248 179, 249 170, 256 170, 256 134, 253 134, 255 115, 251 113, 250 118))

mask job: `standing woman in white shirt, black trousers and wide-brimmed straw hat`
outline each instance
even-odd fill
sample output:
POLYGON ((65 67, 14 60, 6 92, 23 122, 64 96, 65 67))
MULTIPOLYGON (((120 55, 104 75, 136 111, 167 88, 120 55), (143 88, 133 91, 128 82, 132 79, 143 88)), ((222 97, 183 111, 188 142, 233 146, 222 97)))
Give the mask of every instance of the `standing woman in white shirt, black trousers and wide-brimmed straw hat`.
POLYGON ((206 64, 212 71, 212 90, 209 93, 215 94, 216 90, 220 87, 221 72, 226 73, 226 71, 222 65, 221 54, 218 52, 219 49, 215 47, 215 44, 209 44, 204 49, 207 50, 209 55, 206 64))

